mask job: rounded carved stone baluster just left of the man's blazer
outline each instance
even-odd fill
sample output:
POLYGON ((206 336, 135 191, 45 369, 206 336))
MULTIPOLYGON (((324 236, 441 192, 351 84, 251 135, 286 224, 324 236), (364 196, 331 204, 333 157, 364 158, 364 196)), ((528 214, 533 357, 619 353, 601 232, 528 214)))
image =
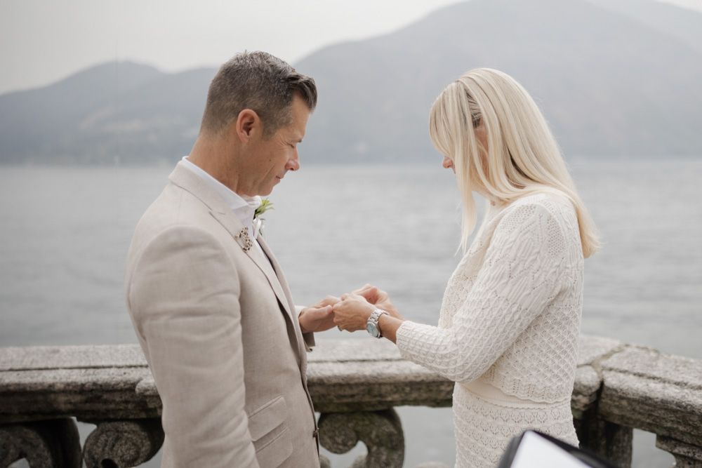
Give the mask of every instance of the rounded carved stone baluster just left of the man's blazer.
POLYGON ((86 439, 87 468, 129 468, 147 462, 164 443, 161 419, 99 422, 86 439))

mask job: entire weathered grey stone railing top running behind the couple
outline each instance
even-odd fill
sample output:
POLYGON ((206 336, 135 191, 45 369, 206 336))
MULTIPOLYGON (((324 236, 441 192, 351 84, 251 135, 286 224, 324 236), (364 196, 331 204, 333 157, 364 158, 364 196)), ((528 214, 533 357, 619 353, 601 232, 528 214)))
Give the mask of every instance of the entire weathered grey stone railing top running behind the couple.
MULTIPOLYGON (((317 340, 307 380, 317 410, 449 406, 453 382, 387 340, 317 340)), ((702 361, 583 335, 571 400, 598 417, 696 443, 702 361)), ((138 345, 0 348, 0 422, 154 417, 161 401, 138 345)))

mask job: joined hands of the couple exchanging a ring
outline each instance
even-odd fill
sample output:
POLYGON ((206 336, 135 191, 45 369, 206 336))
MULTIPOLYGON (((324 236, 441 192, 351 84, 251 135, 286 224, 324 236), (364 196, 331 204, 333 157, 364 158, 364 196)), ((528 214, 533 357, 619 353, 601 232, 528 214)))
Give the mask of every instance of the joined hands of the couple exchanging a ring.
POLYGON ((375 309, 383 309, 391 316, 402 319, 388 293, 366 284, 352 293, 341 297, 329 295, 317 304, 305 307, 300 312, 300 329, 303 333, 329 330, 335 326, 347 331, 365 330, 366 322, 375 309))

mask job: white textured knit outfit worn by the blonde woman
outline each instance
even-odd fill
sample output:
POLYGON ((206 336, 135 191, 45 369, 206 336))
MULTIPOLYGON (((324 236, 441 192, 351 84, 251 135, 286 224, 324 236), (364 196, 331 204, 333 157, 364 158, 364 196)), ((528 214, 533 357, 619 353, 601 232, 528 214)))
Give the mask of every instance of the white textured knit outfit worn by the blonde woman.
POLYGON ((576 213, 550 194, 492 207, 453 272, 439 326, 406 321, 404 359, 456 382, 456 467, 490 467, 538 429, 578 445, 570 400, 583 305, 576 213))

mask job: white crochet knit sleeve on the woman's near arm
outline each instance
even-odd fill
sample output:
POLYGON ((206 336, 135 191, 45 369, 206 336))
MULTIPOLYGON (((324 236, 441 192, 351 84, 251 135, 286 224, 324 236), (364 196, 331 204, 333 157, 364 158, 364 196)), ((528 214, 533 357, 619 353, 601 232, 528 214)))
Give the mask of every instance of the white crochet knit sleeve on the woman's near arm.
POLYGON ((402 357, 454 382, 475 380, 555 297, 566 250, 562 228, 544 206, 505 208, 451 328, 404 322, 397 330, 402 357))

